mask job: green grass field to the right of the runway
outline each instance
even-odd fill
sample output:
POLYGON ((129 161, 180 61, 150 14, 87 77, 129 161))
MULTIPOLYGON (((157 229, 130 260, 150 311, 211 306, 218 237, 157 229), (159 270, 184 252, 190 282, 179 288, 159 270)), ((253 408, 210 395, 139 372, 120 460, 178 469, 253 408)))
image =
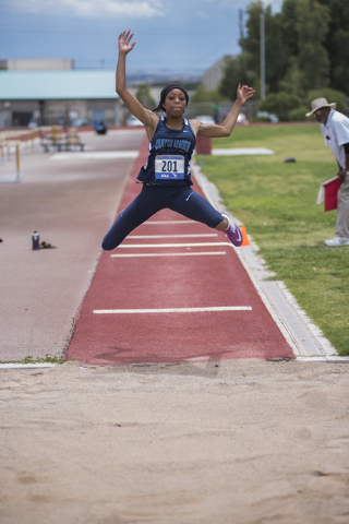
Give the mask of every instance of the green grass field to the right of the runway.
POLYGON ((340 355, 349 355, 349 247, 327 248, 336 211, 316 205, 337 172, 318 126, 236 128, 214 147, 268 147, 270 156, 200 156, 226 207, 246 227, 273 279, 284 281, 340 355), (297 163, 286 164, 292 156, 297 163))

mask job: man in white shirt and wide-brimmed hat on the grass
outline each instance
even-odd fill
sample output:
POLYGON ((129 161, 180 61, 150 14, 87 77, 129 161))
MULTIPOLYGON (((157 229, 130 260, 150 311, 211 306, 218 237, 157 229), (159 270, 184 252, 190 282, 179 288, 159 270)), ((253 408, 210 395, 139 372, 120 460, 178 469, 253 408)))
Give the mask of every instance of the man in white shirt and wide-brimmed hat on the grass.
POLYGON ((340 188, 337 195, 336 236, 326 240, 329 247, 349 246, 349 118, 335 111, 336 103, 328 104, 326 98, 316 98, 311 103, 312 110, 306 117, 314 115, 321 124, 325 145, 330 147, 339 170, 340 188))

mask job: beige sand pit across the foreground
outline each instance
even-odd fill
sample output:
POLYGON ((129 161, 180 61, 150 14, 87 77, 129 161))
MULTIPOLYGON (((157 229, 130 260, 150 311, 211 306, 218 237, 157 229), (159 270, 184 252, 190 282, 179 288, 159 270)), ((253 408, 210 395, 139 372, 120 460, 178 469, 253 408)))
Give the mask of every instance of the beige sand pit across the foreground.
POLYGON ((1 524, 349 521, 349 366, 1 370, 1 524))

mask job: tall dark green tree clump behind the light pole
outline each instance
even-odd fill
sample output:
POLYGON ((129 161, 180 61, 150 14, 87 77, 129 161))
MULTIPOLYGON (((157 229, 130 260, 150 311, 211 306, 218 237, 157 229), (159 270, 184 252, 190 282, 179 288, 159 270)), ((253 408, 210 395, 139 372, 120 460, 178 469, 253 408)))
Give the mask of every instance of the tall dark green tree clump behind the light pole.
MULTIPOLYGON (((261 22, 265 16, 266 92, 287 92, 304 98, 310 90, 333 87, 349 92, 349 1, 284 0, 280 13, 252 1, 244 53, 227 63, 220 93, 234 99, 239 82, 258 88, 261 22)), ((258 93, 256 93, 256 98, 258 93)))

